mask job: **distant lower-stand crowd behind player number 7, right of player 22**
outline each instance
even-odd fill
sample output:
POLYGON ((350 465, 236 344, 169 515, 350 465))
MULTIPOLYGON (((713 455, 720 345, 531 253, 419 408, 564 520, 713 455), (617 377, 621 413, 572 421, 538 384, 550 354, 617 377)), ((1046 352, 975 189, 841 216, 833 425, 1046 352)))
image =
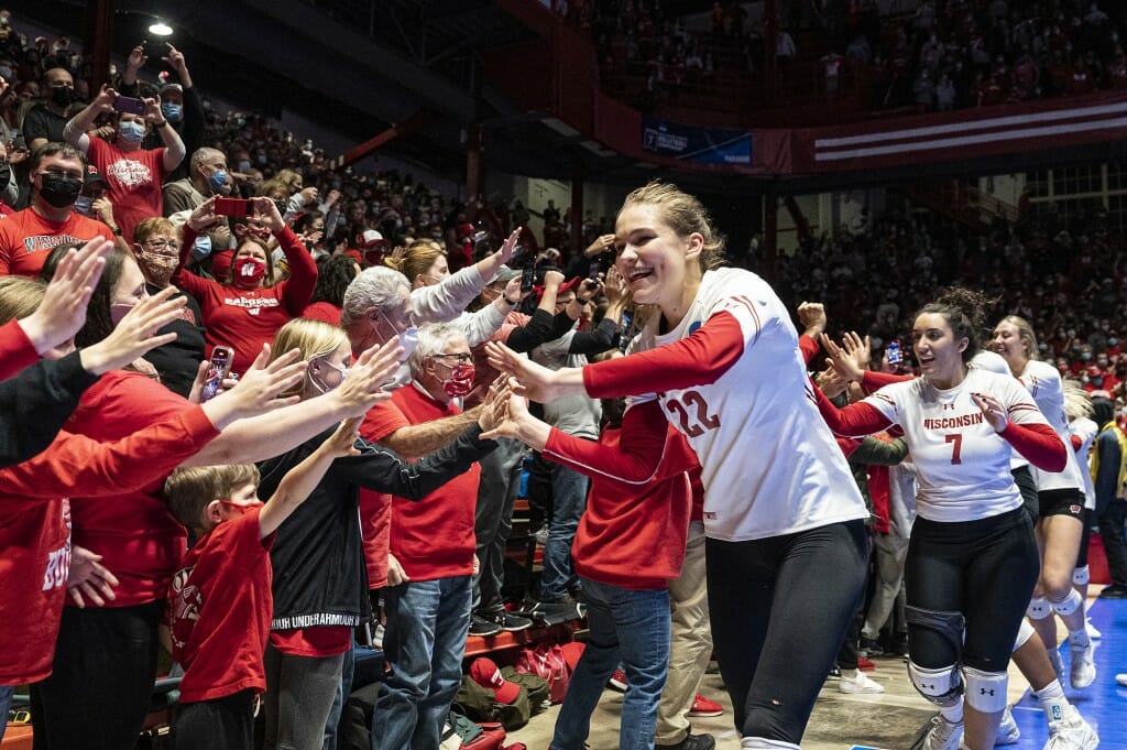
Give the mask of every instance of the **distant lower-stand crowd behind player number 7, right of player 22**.
MULTIPOLYGON (((1032 324, 1040 355, 1062 376, 1124 398, 1127 332, 1118 321, 1127 301, 1127 242, 1098 203, 1068 221, 1055 204, 1027 210, 1015 223, 996 220, 985 237, 932 214, 890 211, 808 238, 778 268, 784 299, 824 300, 843 330, 872 337, 878 359, 907 330, 915 300, 973 282, 1000 315, 1017 311, 1032 324)), ((902 346, 911 350, 907 341, 902 346)))

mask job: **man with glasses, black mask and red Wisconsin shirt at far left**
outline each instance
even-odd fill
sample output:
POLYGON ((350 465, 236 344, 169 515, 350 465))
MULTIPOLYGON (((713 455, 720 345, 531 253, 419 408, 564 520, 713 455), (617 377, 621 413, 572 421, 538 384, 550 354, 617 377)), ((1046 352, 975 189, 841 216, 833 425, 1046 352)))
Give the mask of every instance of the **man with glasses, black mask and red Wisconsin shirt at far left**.
POLYGON ((106 224, 74 211, 86 158, 65 143, 47 143, 32 156, 32 205, 0 221, 0 275, 38 277, 51 249, 96 237, 114 240, 106 224))

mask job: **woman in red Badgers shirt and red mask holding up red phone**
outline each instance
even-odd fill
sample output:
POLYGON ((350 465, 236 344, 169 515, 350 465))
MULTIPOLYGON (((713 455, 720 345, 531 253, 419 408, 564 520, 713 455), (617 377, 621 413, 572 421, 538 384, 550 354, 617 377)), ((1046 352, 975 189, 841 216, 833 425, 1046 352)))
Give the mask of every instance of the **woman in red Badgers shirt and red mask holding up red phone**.
POLYGON ((188 217, 184 226, 180 266, 172 274, 172 283, 199 302, 207 356, 215 346, 230 346, 234 350, 231 369, 239 373, 246 371, 263 344, 273 341, 282 326, 301 317, 313 295, 318 276, 312 256, 285 226, 274 201, 250 198, 248 208, 263 218, 277 238, 290 264, 289 279, 275 283, 269 248, 252 232, 242 236, 230 272, 222 282, 185 270, 196 236, 219 219, 214 197, 204 201, 188 217))

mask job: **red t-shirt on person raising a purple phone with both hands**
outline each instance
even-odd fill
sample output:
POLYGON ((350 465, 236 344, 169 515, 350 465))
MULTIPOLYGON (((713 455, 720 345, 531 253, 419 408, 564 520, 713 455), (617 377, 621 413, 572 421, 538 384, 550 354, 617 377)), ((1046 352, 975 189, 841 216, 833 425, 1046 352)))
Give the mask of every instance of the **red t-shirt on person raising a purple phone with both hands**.
POLYGON ((165 215, 165 149, 122 151, 116 143, 91 138, 87 159, 98 168, 109 186, 114 219, 126 242, 133 242, 133 229, 145 219, 165 215))

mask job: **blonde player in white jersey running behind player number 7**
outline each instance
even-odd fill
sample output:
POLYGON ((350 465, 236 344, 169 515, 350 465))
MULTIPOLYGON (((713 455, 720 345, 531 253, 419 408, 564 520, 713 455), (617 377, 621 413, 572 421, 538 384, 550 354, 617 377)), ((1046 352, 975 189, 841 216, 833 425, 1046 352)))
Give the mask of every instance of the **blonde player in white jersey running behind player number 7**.
MULTIPOLYGON (((1012 315, 1003 318, 994 327, 990 348, 1002 355, 1013 376, 1029 389, 1057 435, 1068 441, 1068 416, 1064 408, 1061 373, 1048 362, 1036 359, 1037 337, 1029 323, 1012 315)), ((1095 680, 1095 663, 1086 630, 1084 598, 1072 586, 1081 536, 1084 533, 1084 477, 1075 455, 1070 450, 1064 471, 1047 473, 1035 468, 1033 478, 1040 503, 1037 546, 1041 555, 1041 575, 1028 615, 1058 674, 1064 670, 1057 651, 1053 614, 1061 617, 1068 628, 1068 650, 1072 654, 1070 681, 1074 688, 1086 688, 1095 680)))

